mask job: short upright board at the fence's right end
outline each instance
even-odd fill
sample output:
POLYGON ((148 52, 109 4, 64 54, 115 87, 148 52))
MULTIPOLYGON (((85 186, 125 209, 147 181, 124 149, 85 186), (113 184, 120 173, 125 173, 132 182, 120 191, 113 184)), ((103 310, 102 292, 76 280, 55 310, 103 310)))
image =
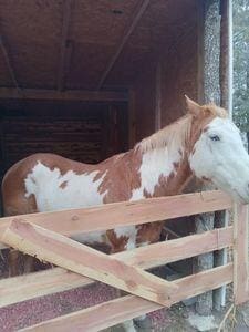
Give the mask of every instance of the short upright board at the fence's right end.
POLYGON ((235 304, 240 304, 249 300, 247 205, 235 205, 234 241, 234 297, 235 304))

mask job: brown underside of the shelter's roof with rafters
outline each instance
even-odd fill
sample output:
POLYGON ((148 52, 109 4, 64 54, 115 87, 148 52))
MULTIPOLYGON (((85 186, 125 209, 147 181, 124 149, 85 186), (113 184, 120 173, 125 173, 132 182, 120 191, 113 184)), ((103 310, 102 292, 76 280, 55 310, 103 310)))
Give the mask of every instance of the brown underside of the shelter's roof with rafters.
POLYGON ((2 0, 0 86, 126 90, 196 29, 193 13, 195 0, 2 0))

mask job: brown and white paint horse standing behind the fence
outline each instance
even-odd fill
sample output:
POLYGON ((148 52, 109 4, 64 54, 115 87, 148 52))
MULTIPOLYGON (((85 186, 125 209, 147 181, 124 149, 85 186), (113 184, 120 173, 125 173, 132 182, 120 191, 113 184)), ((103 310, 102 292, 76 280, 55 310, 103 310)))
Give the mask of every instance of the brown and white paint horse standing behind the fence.
MULTIPOLYGON (((187 113, 176 122, 100 164, 82 164, 54 154, 34 154, 20 160, 2 181, 4 215, 177 195, 193 176, 241 204, 249 203, 249 156, 238 127, 227 111, 215 104, 199 105, 187 96, 186 104, 187 113)), ((163 222, 153 222, 74 239, 105 242, 113 253, 156 242, 162 229, 163 222)))

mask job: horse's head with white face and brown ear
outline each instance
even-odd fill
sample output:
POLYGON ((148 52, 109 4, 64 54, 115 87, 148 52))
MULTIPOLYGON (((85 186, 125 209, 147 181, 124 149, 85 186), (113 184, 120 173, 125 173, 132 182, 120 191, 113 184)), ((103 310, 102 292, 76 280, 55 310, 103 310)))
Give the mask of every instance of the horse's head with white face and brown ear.
POLYGON ((186 97, 193 123, 188 160, 191 172, 236 200, 249 203, 249 155, 239 128, 215 104, 198 105, 186 97))

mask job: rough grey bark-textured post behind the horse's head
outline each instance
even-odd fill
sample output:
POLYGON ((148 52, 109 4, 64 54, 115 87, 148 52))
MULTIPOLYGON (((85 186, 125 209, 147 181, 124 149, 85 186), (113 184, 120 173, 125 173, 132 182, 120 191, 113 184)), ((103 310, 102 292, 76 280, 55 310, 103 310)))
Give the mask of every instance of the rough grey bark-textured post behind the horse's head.
MULTIPOLYGON (((220 1, 198 1, 198 97, 200 102, 220 103, 219 58, 220 58, 220 1), (200 58, 201 56, 201 58, 200 58)), ((201 190, 207 187, 199 188, 201 190)), ((214 214, 196 216, 196 232, 200 234, 214 228, 214 214)), ((214 267, 214 255, 205 253, 196 258, 195 270, 203 271, 214 267)), ((212 292, 197 298, 196 310, 199 314, 210 314, 212 310, 212 292)))

